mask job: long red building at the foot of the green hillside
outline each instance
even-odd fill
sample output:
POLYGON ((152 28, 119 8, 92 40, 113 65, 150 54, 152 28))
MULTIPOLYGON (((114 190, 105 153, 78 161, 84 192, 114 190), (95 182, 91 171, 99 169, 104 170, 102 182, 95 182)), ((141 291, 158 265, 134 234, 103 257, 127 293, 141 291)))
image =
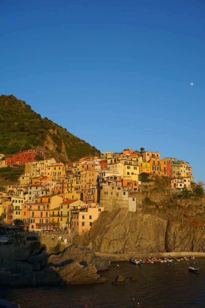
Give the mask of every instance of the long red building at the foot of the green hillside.
POLYGON ((45 157, 44 151, 41 150, 25 150, 20 151, 17 154, 13 155, 13 157, 5 158, 5 165, 24 165, 25 163, 35 161, 36 155, 41 155, 43 158, 45 157))

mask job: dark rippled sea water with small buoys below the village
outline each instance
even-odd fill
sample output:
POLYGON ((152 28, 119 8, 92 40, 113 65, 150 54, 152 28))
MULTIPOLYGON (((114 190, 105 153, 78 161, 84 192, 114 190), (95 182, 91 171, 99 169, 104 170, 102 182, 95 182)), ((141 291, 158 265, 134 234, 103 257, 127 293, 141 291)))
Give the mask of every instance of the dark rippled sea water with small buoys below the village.
POLYGON ((45 286, 0 289, 0 298, 19 303, 22 308, 205 308, 205 259, 134 265, 112 263, 101 272, 104 284, 45 286), (188 270, 199 267, 199 274, 188 270), (112 285, 116 275, 136 281, 112 285), (139 303, 139 305, 138 305, 139 303))

